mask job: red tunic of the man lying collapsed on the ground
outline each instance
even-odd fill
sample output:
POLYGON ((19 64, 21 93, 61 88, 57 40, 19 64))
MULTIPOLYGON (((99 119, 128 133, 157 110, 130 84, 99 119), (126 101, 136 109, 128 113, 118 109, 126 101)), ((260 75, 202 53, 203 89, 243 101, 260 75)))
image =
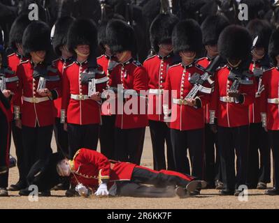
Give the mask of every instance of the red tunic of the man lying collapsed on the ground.
POLYGON ((70 161, 71 183, 83 183, 87 187, 96 188, 101 180, 109 180, 110 187, 114 181, 131 180, 136 164, 108 160, 106 156, 87 148, 81 148, 70 161), (78 182, 77 182, 78 181, 78 182))

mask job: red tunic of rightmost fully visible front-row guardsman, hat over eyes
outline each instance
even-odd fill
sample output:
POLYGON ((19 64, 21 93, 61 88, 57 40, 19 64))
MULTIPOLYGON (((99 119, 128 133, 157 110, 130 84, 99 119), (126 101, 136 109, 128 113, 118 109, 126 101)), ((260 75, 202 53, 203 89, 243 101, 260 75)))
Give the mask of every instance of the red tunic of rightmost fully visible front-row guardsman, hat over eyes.
MULTIPOLYGON (((243 104, 236 102, 222 102, 220 97, 227 97, 227 91, 231 88, 231 80, 228 80, 229 68, 224 66, 215 74, 215 89, 211 95, 210 112, 215 114, 218 125, 222 127, 238 127, 249 125, 249 106, 255 101, 255 84, 239 87, 244 96, 243 104)), ((254 83, 255 80, 253 79, 254 83)), ((214 118, 214 115, 213 115, 214 118)))

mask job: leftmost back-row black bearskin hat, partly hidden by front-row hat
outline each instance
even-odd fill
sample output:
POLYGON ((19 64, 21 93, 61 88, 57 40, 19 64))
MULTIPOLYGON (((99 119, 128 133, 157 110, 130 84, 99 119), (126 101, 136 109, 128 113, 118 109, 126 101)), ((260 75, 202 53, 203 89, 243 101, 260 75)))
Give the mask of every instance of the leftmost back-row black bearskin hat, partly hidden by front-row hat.
POLYGON ((15 22, 13 22, 13 25, 10 28, 9 45, 14 51, 17 50, 17 47, 15 46, 16 43, 22 44, 24 30, 27 28, 30 22, 31 21, 29 20, 28 15, 20 15, 15 19, 15 22))

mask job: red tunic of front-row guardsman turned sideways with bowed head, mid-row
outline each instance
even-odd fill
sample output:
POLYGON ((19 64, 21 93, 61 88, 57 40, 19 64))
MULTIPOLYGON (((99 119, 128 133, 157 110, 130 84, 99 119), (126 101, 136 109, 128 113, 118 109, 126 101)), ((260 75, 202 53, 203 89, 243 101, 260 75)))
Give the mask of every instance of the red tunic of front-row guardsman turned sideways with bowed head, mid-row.
MULTIPOLYGON (((133 59, 117 65, 111 73, 111 83, 113 87, 117 87, 118 84, 121 84, 124 89, 134 90, 140 93, 141 90, 144 90, 147 93, 148 90, 148 74, 141 66, 140 63, 134 61, 133 59)), ((146 95, 147 96, 147 95, 146 95)), ((118 102, 117 102, 118 104, 118 102)), ((115 126, 121 129, 131 129, 131 128, 144 128, 148 125, 148 116, 146 114, 146 100, 145 98, 133 96, 130 99, 124 100, 123 105, 119 103, 123 109, 117 106, 117 115, 115 126), (139 98, 139 99, 138 99, 139 98), (131 100, 138 102, 138 109, 129 106, 131 109, 128 114, 125 107, 127 103, 133 105, 131 100), (141 105, 141 106, 140 106, 141 105), (135 111, 134 111, 134 110, 135 111), (121 111, 123 110, 123 111, 121 111)), ((134 103, 135 104, 135 103, 134 103)))

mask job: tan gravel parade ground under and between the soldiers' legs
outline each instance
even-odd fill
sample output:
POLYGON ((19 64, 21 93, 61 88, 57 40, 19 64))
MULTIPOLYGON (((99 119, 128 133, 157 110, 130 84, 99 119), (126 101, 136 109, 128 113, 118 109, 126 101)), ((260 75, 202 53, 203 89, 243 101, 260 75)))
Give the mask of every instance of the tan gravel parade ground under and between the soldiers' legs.
MULTIPOLYGON (((52 139, 52 148, 55 148, 55 140, 52 139)), ((12 144, 11 154, 15 155, 15 147, 12 144)), ((152 148, 149 130, 146 131, 145 147, 141 165, 152 167, 152 148)), ((9 184, 16 183, 18 178, 17 168, 10 169, 9 184)), ((271 187, 271 185, 269 185, 271 187)), ((248 201, 238 201, 238 197, 220 197, 217 190, 202 190, 198 197, 180 199, 179 197, 146 199, 132 197, 112 197, 85 199, 81 197, 67 198, 64 191, 53 191, 52 197, 39 197, 38 202, 29 201, 28 197, 20 197, 17 192, 9 192, 10 197, 0 198, 0 208, 8 209, 192 209, 192 208, 279 208, 279 196, 269 197, 263 190, 249 190, 248 201)))

